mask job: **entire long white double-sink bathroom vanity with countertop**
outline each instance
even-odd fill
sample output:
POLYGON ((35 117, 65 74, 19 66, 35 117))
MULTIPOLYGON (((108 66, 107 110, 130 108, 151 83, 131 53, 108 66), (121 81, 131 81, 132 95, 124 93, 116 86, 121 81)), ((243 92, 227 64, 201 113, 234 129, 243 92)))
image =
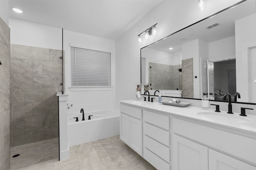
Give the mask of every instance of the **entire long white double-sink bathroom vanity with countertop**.
POLYGON ((256 116, 120 101, 120 139, 158 170, 256 170, 256 116))

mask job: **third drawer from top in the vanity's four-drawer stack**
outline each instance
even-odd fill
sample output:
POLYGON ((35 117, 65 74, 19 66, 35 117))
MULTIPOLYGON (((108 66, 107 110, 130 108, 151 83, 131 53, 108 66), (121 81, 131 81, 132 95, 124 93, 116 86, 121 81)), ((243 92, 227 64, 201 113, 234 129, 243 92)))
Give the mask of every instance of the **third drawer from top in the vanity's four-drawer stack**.
POLYGON ((154 154, 158 155, 166 162, 170 162, 170 148, 151 139, 150 137, 147 137, 146 135, 144 135, 144 147, 149 149, 154 154))

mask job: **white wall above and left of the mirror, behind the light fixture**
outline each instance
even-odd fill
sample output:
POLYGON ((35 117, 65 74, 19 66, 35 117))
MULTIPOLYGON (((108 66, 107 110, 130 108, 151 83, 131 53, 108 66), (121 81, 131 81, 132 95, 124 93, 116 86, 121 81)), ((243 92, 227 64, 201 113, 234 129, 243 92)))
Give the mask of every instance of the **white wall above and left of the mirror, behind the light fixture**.
POLYGON ((136 82, 140 82, 140 48, 239 1, 209 0, 204 12, 197 11, 196 0, 162 1, 116 40, 116 100, 135 99, 136 82), (157 35, 138 44, 137 35, 155 23, 157 35))

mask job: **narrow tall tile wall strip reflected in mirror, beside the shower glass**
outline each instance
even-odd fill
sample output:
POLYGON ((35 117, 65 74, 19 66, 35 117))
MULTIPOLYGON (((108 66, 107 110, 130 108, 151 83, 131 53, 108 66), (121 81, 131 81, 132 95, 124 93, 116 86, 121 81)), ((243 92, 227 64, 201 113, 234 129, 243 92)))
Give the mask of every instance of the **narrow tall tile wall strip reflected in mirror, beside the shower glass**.
POLYGON ((194 98, 193 58, 182 60, 182 97, 194 98))

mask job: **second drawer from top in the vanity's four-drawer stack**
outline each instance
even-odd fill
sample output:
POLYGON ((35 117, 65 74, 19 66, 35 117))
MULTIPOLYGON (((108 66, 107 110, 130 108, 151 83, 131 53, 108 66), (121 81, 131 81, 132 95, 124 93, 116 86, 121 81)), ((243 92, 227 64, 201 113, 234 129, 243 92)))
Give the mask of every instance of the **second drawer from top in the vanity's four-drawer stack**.
POLYGON ((143 131, 145 135, 163 143, 166 146, 170 146, 170 132, 150 125, 148 123, 143 123, 143 131))

